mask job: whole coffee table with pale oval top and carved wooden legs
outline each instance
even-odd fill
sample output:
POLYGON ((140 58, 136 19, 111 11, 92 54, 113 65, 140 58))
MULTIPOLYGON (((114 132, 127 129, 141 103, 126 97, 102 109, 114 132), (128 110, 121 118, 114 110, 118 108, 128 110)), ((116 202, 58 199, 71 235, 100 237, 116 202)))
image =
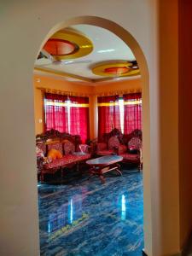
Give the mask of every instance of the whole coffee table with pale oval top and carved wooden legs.
POLYGON ((105 177, 103 174, 106 172, 116 171, 122 175, 118 164, 122 160, 123 157, 119 155, 105 155, 92 160, 87 160, 86 164, 90 166, 90 177, 97 175, 101 179, 102 183, 105 183, 105 177))

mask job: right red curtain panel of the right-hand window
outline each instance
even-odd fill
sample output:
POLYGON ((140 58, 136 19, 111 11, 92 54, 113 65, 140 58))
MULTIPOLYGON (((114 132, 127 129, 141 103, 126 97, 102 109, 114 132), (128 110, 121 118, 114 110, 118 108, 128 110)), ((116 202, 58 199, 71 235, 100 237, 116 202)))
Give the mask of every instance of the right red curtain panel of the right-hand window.
POLYGON ((142 130, 142 94, 125 94, 124 98, 124 133, 135 129, 142 130))

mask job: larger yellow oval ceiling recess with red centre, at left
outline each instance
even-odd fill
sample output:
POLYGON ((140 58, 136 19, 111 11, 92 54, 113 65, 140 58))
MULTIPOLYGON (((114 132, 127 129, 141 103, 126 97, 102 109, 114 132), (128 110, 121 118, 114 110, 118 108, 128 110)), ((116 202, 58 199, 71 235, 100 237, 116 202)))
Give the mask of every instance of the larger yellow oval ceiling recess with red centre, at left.
POLYGON ((89 55, 93 50, 93 44, 89 38, 77 31, 63 29, 55 32, 44 44, 44 49, 52 55, 55 60, 76 59, 89 55))

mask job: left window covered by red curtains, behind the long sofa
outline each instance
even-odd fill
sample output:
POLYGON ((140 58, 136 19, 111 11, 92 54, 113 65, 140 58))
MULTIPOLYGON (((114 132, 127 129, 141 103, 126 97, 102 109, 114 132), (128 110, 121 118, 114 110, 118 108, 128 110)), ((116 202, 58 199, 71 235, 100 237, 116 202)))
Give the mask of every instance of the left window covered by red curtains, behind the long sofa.
POLYGON ((45 131, 55 129, 80 135, 83 142, 90 137, 89 98, 45 93, 45 131))

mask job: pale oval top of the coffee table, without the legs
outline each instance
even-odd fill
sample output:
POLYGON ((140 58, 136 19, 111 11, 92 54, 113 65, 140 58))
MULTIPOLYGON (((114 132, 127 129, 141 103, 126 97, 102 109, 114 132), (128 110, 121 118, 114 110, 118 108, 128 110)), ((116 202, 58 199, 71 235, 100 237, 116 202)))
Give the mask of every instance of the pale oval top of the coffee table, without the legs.
POLYGON ((105 155, 95 159, 87 160, 86 164, 90 166, 109 166, 122 160, 123 157, 119 155, 105 155))

